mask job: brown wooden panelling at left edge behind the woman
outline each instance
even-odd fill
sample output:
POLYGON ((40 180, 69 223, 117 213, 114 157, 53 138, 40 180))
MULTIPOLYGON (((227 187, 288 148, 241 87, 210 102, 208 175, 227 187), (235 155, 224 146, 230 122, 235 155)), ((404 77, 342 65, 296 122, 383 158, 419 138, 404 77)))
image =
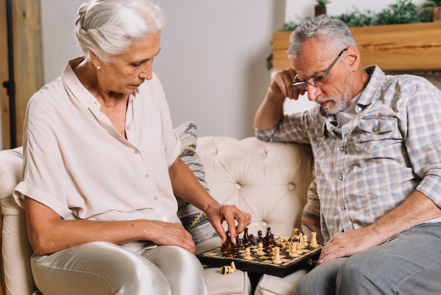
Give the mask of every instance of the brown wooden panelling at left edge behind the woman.
MULTIPOLYGON (((8 78, 6 1, 0 7, 0 81, 8 78)), ((13 0, 13 53, 15 67, 15 116, 17 145, 23 144, 23 119, 27 101, 43 85, 42 33, 39 0, 13 0)), ((1 87, 1 131, 3 148, 11 148, 9 97, 1 87)))

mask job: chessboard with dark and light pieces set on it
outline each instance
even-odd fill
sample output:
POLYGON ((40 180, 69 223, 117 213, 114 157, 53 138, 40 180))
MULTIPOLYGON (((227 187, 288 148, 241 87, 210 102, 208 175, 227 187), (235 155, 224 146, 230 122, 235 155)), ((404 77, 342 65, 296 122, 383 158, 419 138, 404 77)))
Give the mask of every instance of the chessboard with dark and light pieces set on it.
MULTIPOLYGON (((269 228, 268 232, 270 232, 269 228)), ((285 277, 302 267, 315 265, 320 251, 320 245, 313 244, 313 246, 310 246, 302 239, 301 234, 299 237, 299 231, 297 231, 297 237, 294 234, 289 239, 282 239, 281 237, 274 239, 271 232, 264 237, 261 236, 260 232, 259 236, 247 236, 247 232, 245 232, 243 239, 237 239, 237 246, 228 248, 228 245, 224 244, 218 248, 200 253, 197 258, 205 265, 221 267, 230 265, 234 261, 238 270, 285 277), (303 244, 302 246, 293 247, 292 243, 294 242, 303 244), (266 245, 263 246, 263 244, 266 245), (292 251, 296 253, 290 255, 292 251), (277 260, 275 260, 275 252, 278 256, 277 260)))

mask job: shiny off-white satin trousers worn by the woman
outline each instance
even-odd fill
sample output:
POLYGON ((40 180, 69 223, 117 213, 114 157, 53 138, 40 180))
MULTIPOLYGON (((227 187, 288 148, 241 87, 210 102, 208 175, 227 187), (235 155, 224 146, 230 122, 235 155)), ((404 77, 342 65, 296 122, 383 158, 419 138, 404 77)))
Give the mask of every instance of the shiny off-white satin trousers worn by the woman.
POLYGON ((32 255, 31 267, 44 295, 207 294, 201 263, 177 246, 157 246, 139 255, 114 243, 87 243, 32 255))

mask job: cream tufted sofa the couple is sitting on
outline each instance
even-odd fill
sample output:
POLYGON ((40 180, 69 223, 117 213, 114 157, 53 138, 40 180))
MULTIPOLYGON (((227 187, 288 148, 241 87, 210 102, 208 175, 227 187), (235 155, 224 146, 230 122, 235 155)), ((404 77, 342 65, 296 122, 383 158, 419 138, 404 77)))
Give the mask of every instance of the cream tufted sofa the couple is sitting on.
MULTIPOLYGON (((306 145, 265 143, 256 138, 237 140, 207 136, 197 140, 197 153, 205 169, 211 194, 221 203, 235 204, 250 212, 249 233, 288 236, 300 227, 306 191, 311 183, 313 159, 306 145)), ((21 148, 0 152, 0 204, 3 215, 1 269, 4 294, 38 294, 32 280, 25 215, 11 193, 22 173, 21 148)), ((220 246, 213 238, 197 245, 197 251, 220 246)), ((304 272, 285 278, 263 275, 257 279, 237 270, 221 275, 217 267, 205 268, 210 294, 293 294, 304 272)))

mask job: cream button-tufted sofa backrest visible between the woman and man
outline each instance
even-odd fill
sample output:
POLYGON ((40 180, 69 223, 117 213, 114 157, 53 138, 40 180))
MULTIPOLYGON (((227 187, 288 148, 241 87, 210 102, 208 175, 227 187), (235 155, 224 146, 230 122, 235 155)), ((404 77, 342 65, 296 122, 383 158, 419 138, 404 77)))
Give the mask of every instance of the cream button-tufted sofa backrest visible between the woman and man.
POLYGON ((266 143, 256 138, 198 138, 206 182, 220 203, 251 213, 249 234, 267 227, 277 237, 300 229, 313 157, 307 145, 266 143))

